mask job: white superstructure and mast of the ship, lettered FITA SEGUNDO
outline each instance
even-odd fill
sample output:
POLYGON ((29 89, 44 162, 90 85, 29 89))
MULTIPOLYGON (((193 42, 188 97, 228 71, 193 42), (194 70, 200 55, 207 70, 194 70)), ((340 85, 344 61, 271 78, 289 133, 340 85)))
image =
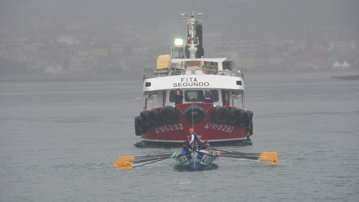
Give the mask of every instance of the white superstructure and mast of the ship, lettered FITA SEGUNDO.
POLYGON ((238 71, 233 72, 231 61, 226 61, 226 58, 203 58, 203 48, 198 51, 196 47, 202 41, 202 35, 196 37, 196 30, 199 32, 196 27, 202 29, 198 22, 206 17, 205 13, 197 14, 196 17, 192 15, 191 18, 186 13, 178 14, 179 19, 188 22, 185 46, 181 40, 176 40, 177 45, 170 49, 172 60, 168 69, 153 71, 150 67, 146 68, 143 110, 174 105, 172 95, 177 88, 183 93, 183 103, 201 102, 209 88, 215 96, 215 105, 246 109, 243 73, 239 70, 246 71, 246 68, 238 67, 238 71), (186 58, 187 55, 190 57, 186 58))

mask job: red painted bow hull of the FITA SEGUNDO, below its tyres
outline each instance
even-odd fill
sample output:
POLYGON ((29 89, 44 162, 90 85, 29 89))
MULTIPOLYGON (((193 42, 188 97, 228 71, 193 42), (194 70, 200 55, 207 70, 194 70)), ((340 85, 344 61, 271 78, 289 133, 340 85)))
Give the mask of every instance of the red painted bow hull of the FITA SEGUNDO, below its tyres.
MULTIPOLYGON (((205 118, 199 123, 195 123, 193 128, 195 133, 201 136, 202 140, 208 140, 210 143, 246 143, 246 127, 237 127, 233 124, 216 124, 212 119, 213 105, 196 103, 201 105, 206 110, 205 118)), ((178 145, 190 138, 188 129, 192 128, 192 123, 189 123, 183 116, 183 111, 191 104, 176 105, 175 109, 179 116, 176 123, 163 123, 160 127, 151 127, 146 133, 142 134, 141 141, 144 144, 174 144, 178 145)))

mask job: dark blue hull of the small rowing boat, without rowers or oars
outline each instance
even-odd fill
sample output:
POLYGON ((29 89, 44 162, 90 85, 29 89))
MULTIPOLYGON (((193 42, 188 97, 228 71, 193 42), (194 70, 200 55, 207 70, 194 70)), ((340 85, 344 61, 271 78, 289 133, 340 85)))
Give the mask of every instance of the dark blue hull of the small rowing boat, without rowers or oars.
POLYGON ((174 157, 181 165, 197 170, 210 165, 218 156, 209 155, 203 152, 191 151, 174 157))

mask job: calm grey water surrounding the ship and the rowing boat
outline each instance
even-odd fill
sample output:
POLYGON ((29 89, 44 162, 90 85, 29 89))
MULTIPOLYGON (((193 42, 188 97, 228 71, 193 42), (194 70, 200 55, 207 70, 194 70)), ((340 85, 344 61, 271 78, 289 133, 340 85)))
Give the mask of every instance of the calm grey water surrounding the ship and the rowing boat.
POLYGON ((359 81, 246 74, 251 146, 279 164, 220 157, 187 171, 168 159, 111 162, 178 148, 133 146, 142 81, 0 83, 0 201, 358 201, 359 81))

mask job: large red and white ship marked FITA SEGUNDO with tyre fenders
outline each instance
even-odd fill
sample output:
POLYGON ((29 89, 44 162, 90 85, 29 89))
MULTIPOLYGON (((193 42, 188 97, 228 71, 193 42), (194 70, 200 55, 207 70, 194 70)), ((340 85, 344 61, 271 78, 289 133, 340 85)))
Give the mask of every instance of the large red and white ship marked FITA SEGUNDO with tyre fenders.
POLYGON ((144 67, 142 109, 135 117, 135 134, 144 145, 178 146, 190 139, 189 128, 211 145, 251 142, 253 112, 246 108, 244 93, 247 68, 234 67, 227 58, 204 57, 200 22, 206 18, 206 13, 179 13, 178 19, 187 23, 186 37, 157 58, 155 70, 144 67), (207 89, 213 94, 209 103, 207 89), (182 104, 175 104, 177 93, 182 104))

